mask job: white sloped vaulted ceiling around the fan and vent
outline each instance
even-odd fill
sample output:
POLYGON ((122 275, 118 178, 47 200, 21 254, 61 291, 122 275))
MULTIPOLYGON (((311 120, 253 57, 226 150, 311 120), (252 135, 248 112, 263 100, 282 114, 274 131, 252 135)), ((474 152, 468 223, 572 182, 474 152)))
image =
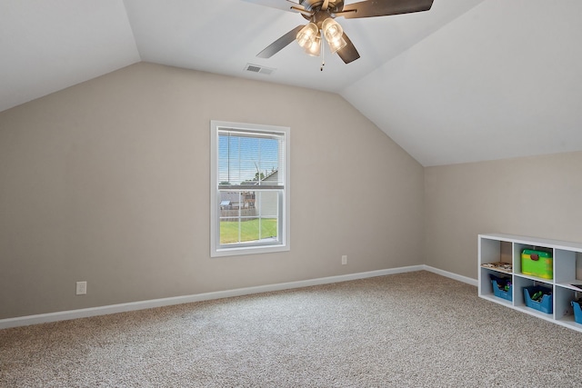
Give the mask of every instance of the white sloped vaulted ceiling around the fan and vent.
POLYGON ((241 0, 0 0, 0 111, 146 61, 338 93, 425 166, 578 151, 580 20, 579 0, 340 17, 361 58, 322 72, 296 44, 257 58, 306 21, 241 0))

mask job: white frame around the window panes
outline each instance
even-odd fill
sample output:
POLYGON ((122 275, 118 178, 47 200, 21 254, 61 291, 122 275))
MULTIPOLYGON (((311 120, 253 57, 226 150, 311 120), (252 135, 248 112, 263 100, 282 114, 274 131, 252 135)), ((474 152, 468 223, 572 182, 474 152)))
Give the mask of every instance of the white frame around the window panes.
POLYGON ((241 254, 266 254, 284 252, 290 250, 290 219, 289 219, 289 193, 290 193, 290 134, 291 129, 286 126, 265 124, 231 123, 226 121, 211 120, 210 122, 210 256, 233 256, 241 254), (218 190, 218 134, 221 130, 242 130, 256 133, 279 134, 284 136, 284 146, 280 150, 284 153, 284 190, 282 204, 279 207, 279 222, 281 223, 281 235, 278 241, 272 244, 233 244, 226 246, 220 244, 220 192, 218 190))

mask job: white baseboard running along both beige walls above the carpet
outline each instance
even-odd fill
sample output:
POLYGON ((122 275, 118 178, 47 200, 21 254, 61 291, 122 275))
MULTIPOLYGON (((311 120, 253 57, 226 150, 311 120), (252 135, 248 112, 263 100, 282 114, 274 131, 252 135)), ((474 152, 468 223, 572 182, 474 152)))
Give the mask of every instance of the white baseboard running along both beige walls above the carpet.
POLYGON ((15 318, 0 319, 0 329, 7 329, 9 327, 26 326, 29 324, 49 323, 56 321, 65 321, 76 318, 86 318, 95 315, 105 315, 109 313, 125 313, 135 310, 144 310, 155 307, 169 306, 181 303, 202 302, 214 299, 228 298, 232 296, 249 295, 253 293, 268 293, 272 291, 289 290, 293 288, 309 287, 319 284, 332 284, 339 282, 346 282, 350 280, 366 279, 368 277, 384 276, 386 274, 402 274, 415 271, 429 271, 435 274, 455 279, 459 282, 472 284, 477 286, 477 280, 471 279, 458 274, 449 273, 447 271, 439 270, 428 265, 411 265, 406 267, 391 268, 386 270, 370 271, 358 274, 343 274, 338 276, 321 277, 317 279, 301 280, 297 282, 266 284, 258 285, 256 287, 237 288, 234 290, 217 291, 214 293, 196 293, 192 295, 175 296, 171 298, 152 299, 148 301, 110 304, 106 306, 91 307, 79 310, 69 310, 55 313, 41 313, 36 315, 19 316, 15 318))

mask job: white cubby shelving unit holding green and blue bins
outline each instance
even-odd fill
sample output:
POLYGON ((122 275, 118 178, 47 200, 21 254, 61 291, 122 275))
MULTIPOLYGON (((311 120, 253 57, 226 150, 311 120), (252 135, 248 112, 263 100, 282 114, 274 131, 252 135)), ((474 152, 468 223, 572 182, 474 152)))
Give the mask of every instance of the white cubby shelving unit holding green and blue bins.
POLYGON ((582 279, 577 279, 577 259, 580 257, 582 257, 582 244, 580 243, 511 234, 479 234, 479 297, 582 332, 582 324, 575 322, 571 305, 572 301, 582 297, 582 289, 572 285, 582 284, 582 279), (544 279, 523 274, 521 272, 521 252, 524 249, 541 249, 551 252, 554 278, 544 279), (487 264, 495 263, 512 264, 513 268, 487 267, 487 264), (511 291, 513 293, 511 301, 494 294, 489 274, 511 278, 511 291), (532 285, 542 285, 552 289, 553 313, 542 313, 526 306, 523 288, 532 285))

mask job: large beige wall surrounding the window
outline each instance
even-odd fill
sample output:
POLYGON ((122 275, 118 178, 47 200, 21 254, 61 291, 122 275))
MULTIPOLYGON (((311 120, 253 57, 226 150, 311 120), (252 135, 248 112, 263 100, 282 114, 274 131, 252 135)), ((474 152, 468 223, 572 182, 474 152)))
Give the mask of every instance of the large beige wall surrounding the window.
POLYGON ((338 95, 129 66, 0 113, 0 318, 422 264, 423 174, 338 95), (212 119, 291 127, 290 252, 210 258, 212 119))

